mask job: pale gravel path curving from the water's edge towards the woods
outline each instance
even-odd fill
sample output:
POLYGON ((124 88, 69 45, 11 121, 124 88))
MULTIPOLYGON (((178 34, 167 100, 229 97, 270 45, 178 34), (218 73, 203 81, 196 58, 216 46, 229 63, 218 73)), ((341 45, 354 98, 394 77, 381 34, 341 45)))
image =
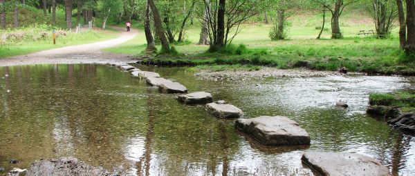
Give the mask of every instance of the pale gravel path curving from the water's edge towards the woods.
POLYGON ((124 28, 112 27, 122 31, 117 39, 100 41, 96 43, 83 44, 78 46, 66 46, 52 50, 44 50, 29 55, 21 55, 1 59, 0 66, 21 66, 40 63, 107 63, 124 61, 131 62, 132 58, 127 55, 114 55, 102 52, 102 49, 117 46, 129 41, 138 35, 137 30, 125 32, 124 28))

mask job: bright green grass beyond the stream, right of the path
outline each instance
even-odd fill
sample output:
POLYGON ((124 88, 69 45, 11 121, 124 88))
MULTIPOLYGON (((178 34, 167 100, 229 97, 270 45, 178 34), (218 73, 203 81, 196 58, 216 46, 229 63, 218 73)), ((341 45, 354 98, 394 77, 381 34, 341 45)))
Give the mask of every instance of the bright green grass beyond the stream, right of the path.
MULTIPOLYGON (((360 30, 374 30, 372 19, 365 8, 355 6, 344 11, 340 18, 340 28, 344 39, 330 39, 331 31, 325 30, 320 40, 315 39, 320 30, 322 15, 312 12, 302 12, 291 17, 292 26, 289 29, 288 39, 271 41, 268 37, 270 24, 251 23, 243 29, 233 44, 243 43, 251 51, 243 55, 223 55, 205 53, 208 46, 197 46, 200 27, 196 24, 187 30, 189 45, 175 46, 178 52, 185 54, 177 59, 155 60, 158 64, 237 64, 248 63, 263 66, 277 66, 278 68, 293 68, 302 66, 301 61, 308 61, 308 68, 317 70, 337 70, 346 66, 351 71, 380 72, 385 74, 415 75, 415 63, 401 63, 402 53, 399 49, 398 31, 394 29, 390 39, 376 39, 374 37, 359 37, 360 30), (265 52, 263 52, 265 50, 265 52), (259 52, 263 54, 259 54, 259 52), (265 53, 265 54, 264 54, 265 53), (225 61, 223 61, 225 60, 225 61)), ((326 17, 330 22, 330 17, 326 17)), ((326 23, 330 29, 331 24, 326 23)), ((142 55, 145 49, 145 36, 139 35, 133 41, 124 43, 106 51, 129 55, 142 55)))

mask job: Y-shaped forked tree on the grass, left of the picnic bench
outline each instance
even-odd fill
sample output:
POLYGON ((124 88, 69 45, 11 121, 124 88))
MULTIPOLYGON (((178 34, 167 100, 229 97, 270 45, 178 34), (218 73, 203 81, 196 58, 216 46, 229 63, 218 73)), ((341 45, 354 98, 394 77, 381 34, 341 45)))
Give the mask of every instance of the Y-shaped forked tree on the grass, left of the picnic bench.
POLYGON ((356 3, 359 0, 311 0, 319 3, 331 12, 331 38, 342 39, 343 35, 340 31, 339 18, 344 8, 351 3, 356 3))

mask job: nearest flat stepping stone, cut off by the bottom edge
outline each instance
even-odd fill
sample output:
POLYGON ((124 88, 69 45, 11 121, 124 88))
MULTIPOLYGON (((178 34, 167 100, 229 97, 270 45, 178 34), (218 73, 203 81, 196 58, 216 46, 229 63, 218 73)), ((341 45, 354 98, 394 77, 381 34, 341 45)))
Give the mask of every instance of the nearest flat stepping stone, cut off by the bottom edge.
POLYGON ((321 175, 391 175, 376 159, 356 153, 307 152, 301 159, 321 175))

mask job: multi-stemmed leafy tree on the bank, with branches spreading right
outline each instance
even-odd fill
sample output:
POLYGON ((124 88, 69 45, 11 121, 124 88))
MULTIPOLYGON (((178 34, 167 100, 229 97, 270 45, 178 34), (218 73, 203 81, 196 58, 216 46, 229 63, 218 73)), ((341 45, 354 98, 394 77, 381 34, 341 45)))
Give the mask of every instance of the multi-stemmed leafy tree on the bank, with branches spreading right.
POLYGON ((260 0, 204 0, 208 12, 210 51, 214 52, 229 43, 241 32, 241 23, 261 11, 267 1, 260 0), (231 33, 233 35, 231 35, 231 33))

